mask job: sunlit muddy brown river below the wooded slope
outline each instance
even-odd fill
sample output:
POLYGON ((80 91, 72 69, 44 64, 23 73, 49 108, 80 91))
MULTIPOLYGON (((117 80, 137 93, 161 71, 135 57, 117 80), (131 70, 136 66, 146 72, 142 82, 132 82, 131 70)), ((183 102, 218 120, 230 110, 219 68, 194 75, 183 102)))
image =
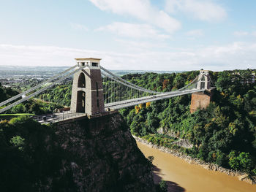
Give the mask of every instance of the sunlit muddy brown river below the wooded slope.
POLYGON ((137 142, 146 156, 154 156, 154 182, 165 180, 168 191, 173 192, 256 192, 256 185, 250 185, 221 172, 209 171, 189 164, 181 158, 137 142))

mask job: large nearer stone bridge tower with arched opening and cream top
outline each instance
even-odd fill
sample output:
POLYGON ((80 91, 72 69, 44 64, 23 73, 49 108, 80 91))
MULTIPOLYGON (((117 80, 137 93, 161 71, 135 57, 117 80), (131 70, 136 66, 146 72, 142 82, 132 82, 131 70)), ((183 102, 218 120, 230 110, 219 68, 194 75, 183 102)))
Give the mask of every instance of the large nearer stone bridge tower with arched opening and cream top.
POLYGON ((99 58, 75 58, 79 66, 86 66, 74 74, 70 111, 97 115, 105 112, 102 75, 99 58))

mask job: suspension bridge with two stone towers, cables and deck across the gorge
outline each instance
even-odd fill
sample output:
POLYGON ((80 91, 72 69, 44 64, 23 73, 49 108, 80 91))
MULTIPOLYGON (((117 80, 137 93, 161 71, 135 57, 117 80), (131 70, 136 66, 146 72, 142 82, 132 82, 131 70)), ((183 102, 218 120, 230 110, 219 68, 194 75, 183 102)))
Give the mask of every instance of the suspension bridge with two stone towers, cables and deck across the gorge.
POLYGON ((0 113, 39 95, 54 85, 59 85, 72 75, 74 78, 70 110, 59 115, 58 113, 51 115, 54 122, 81 116, 99 116, 124 107, 211 89, 211 78, 208 71, 200 70, 200 74, 183 88, 176 91, 159 92, 142 88, 118 77, 100 66, 99 61, 98 58, 76 58, 77 63, 64 72, 56 74, 17 96, 2 101, 0 113), (61 116, 62 118, 60 118, 61 116))

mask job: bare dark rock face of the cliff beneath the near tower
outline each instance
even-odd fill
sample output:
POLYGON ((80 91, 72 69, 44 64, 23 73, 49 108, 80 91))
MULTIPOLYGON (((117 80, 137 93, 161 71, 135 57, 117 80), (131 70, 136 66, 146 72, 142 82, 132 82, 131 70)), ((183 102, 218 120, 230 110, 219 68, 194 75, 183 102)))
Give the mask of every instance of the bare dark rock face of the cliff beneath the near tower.
POLYGON ((55 128, 61 157, 40 191, 155 191, 148 161, 118 113, 55 128))

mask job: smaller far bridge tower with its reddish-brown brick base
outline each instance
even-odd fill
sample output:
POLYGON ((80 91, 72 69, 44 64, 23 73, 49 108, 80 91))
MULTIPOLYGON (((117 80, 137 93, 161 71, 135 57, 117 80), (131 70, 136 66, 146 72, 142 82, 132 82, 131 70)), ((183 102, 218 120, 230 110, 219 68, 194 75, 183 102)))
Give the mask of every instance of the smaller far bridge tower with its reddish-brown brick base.
POLYGON ((195 112, 198 108, 205 109, 211 102, 211 85, 208 70, 200 70, 197 82, 197 89, 205 89, 203 93, 192 93, 190 112, 195 112))

